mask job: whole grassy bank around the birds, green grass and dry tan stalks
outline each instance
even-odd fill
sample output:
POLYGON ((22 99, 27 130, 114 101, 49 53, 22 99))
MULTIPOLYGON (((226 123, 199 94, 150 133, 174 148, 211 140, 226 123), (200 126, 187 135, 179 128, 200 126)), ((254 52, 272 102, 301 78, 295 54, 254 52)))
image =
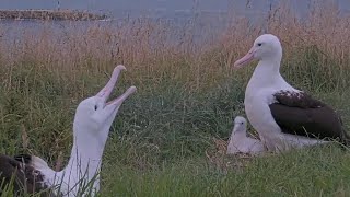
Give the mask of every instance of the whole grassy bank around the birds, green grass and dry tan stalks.
MULTIPOLYGON (((349 18, 337 16, 332 8, 318 4, 299 21, 282 4, 271 11, 268 25, 283 45, 282 74, 332 105, 350 130, 349 18)), ((211 154, 209 160, 205 152, 215 150, 212 138, 226 140, 232 118, 244 115, 254 67, 234 71, 231 65, 261 28, 237 19, 198 44, 192 25, 141 18, 118 27, 92 23, 61 36, 47 26, 11 43, 2 32, 1 153, 31 152, 51 166, 61 154, 66 162, 77 105, 124 63, 128 71, 115 94, 131 84, 138 92, 110 130, 102 196, 347 196, 350 154, 338 147, 248 161, 211 154), (179 42, 170 37, 174 34, 179 42)))

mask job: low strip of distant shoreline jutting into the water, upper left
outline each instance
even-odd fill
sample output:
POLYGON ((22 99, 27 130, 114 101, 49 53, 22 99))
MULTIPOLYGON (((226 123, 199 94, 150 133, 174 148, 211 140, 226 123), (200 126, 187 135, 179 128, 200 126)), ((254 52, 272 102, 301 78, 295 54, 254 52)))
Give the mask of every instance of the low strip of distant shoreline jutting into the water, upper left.
POLYGON ((105 14, 78 10, 0 10, 0 20, 95 21, 106 19, 105 14))

